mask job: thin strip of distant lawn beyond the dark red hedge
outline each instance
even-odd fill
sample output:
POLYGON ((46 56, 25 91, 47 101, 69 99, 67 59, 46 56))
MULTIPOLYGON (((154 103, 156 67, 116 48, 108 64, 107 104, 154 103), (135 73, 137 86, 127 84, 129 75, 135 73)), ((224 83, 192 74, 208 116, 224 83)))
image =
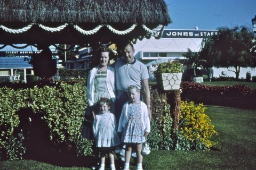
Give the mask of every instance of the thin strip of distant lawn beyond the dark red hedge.
POLYGON ((246 84, 247 86, 256 89, 256 82, 246 82, 246 81, 205 81, 202 84, 212 85, 212 86, 231 86, 235 84, 246 84))

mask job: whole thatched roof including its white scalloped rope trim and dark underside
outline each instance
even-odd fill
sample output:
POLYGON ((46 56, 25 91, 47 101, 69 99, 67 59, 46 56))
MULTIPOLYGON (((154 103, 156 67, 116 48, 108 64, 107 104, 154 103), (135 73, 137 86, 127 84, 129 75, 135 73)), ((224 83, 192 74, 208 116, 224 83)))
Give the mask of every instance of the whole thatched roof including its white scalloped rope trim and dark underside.
POLYGON ((0 44, 159 38, 170 22, 164 0, 0 0, 0 44))

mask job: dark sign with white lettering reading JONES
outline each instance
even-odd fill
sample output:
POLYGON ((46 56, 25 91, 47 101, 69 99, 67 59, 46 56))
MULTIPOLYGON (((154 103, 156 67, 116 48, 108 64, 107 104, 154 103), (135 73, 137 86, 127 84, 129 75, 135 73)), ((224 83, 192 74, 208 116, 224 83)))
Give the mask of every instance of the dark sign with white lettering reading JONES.
POLYGON ((218 30, 164 30, 162 38, 208 38, 218 30))

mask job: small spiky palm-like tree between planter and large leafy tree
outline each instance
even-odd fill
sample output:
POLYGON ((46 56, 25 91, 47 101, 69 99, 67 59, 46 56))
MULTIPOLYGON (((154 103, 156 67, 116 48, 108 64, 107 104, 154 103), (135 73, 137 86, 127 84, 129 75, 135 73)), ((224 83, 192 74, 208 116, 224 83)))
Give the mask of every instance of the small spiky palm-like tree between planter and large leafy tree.
POLYGON ((188 52, 186 54, 183 54, 184 57, 188 58, 188 60, 184 62, 184 65, 188 68, 193 68, 194 77, 196 77, 196 68, 203 67, 202 64, 206 63, 206 60, 200 59, 199 53, 193 53, 189 48, 187 50, 188 52))

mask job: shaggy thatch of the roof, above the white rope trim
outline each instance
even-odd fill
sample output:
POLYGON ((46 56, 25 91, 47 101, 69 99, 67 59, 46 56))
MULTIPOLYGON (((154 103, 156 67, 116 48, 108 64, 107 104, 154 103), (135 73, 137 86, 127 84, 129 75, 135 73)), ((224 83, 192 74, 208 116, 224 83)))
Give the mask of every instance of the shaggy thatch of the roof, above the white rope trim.
POLYGON ((171 20, 160 0, 1 0, 0 22, 161 23, 171 20))

